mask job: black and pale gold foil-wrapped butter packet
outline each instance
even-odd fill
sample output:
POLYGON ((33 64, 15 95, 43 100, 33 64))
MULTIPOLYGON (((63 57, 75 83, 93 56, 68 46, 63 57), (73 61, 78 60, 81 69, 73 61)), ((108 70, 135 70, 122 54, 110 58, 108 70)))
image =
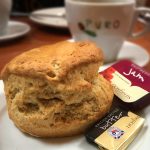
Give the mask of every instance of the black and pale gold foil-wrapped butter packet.
POLYGON ((140 116, 120 108, 113 109, 86 133, 86 139, 101 150, 124 150, 144 124, 140 116))

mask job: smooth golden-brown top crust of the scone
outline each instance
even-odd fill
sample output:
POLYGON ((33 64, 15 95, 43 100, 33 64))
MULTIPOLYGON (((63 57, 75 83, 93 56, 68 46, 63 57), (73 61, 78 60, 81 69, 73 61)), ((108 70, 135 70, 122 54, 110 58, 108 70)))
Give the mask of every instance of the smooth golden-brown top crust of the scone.
POLYGON ((103 63, 100 48, 88 41, 63 41, 24 52, 4 67, 1 76, 4 79, 9 74, 42 78, 48 75, 60 80, 76 66, 89 63, 103 63))

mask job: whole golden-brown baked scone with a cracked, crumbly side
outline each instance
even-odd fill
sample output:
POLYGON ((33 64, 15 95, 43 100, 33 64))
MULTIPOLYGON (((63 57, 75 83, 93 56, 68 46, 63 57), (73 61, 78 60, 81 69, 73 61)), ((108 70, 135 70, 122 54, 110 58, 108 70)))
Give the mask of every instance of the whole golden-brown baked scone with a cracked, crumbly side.
POLYGON ((9 117, 38 137, 83 133, 112 103, 112 87, 98 74, 102 63, 91 42, 65 41, 19 55, 2 71, 9 117))

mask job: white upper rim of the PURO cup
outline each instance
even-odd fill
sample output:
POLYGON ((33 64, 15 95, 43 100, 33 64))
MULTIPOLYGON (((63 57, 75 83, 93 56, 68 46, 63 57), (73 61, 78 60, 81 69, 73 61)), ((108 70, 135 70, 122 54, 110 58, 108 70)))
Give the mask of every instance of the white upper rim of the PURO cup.
POLYGON ((82 6, 125 6, 135 4, 135 0, 128 1, 118 1, 118 2, 88 2, 88 1, 76 1, 76 0, 66 0, 66 3, 82 5, 82 6))

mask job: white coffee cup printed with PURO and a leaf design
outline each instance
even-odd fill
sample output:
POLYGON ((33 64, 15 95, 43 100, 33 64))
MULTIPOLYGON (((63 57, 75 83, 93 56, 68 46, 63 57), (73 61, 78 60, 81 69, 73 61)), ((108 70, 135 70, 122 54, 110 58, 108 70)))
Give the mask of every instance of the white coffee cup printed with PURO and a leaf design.
POLYGON ((135 0, 66 0, 66 17, 75 41, 91 40, 104 52, 105 62, 116 60, 123 42, 147 31, 148 23, 139 33, 132 33, 140 13, 135 0))

